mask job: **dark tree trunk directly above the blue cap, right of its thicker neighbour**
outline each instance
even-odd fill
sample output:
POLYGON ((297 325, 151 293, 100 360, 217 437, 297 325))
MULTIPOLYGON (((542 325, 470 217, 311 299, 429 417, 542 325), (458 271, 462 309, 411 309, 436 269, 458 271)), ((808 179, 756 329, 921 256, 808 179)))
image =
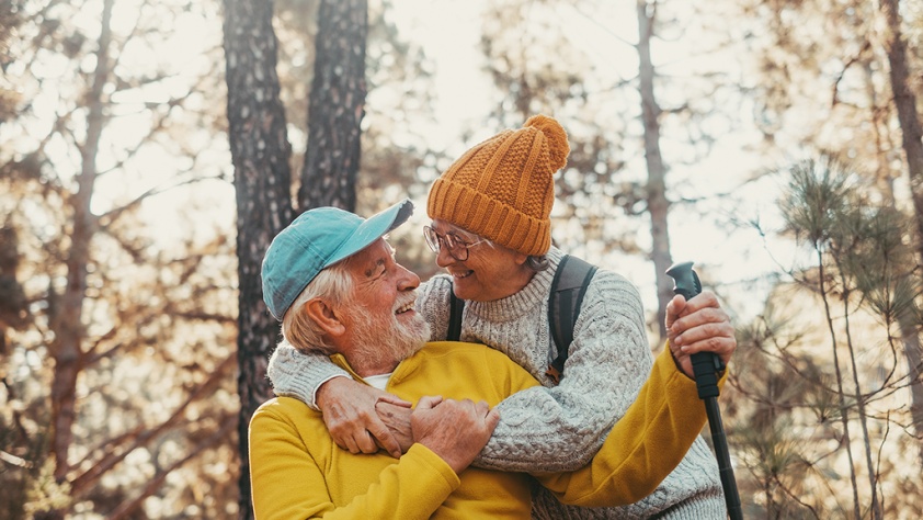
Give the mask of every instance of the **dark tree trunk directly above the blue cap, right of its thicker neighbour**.
POLYGON ((308 145, 298 210, 355 211, 365 114, 366 0, 322 0, 318 15, 308 145))

